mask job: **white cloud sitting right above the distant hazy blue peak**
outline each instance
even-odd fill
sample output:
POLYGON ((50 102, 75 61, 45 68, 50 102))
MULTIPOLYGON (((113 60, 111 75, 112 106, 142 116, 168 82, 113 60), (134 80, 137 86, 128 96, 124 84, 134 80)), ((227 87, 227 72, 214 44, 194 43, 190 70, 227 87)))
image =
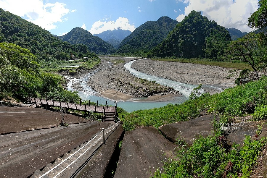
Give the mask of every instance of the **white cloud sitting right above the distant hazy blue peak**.
POLYGON ((102 22, 100 20, 94 22, 89 31, 92 34, 99 34, 106 30, 114 30, 115 28, 118 27, 123 30, 130 30, 131 32, 134 31, 135 29, 134 25, 130 24, 127 18, 119 17, 115 22, 114 21, 102 22))

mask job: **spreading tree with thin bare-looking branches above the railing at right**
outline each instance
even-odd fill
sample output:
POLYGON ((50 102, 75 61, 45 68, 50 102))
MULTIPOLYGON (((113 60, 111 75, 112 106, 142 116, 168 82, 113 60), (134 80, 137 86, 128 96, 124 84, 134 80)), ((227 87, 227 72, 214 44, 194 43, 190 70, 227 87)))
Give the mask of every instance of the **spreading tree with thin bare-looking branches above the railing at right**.
POLYGON ((230 59, 237 59, 250 64, 254 71, 258 49, 258 34, 248 33, 243 38, 238 38, 236 41, 231 41, 228 45, 226 53, 230 59))

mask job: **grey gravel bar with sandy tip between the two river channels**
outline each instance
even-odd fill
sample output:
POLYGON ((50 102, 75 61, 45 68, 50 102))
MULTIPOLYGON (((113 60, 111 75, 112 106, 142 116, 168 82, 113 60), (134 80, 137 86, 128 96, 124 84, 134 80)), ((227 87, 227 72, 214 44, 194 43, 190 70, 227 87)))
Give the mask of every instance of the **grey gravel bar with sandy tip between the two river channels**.
MULTIPOLYGON (((158 101, 166 101, 166 98, 173 99, 169 95, 181 96, 173 88, 140 79, 128 72, 124 64, 135 59, 138 58, 101 57, 102 69, 89 77, 87 84, 100 96, 117 101, 133 101, 134 98, 149 96, 158 96, 158 101)), ((155 98, 147 98, 146 101, 155 101, 155 98)))

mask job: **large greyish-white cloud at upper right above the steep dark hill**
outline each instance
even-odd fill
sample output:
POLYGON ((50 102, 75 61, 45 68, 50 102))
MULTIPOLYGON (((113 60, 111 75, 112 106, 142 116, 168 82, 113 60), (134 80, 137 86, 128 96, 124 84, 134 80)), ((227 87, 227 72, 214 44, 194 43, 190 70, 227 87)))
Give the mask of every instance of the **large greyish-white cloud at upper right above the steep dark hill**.
MULTIPOLYGON (((184 8, 184 15, 188 15, 192 10, 201 11, 202 15, 209 20, 215 20, 218 25, 225 28, 234 27, 242 32, 251 30, 246 25, 247 18, 258 9, 258 0, 184 0, 183 2, 186 1, 189 4, 184 8)), ((181 17, 182 15, 179 15, 176 20, 181 20, 181 17)))

